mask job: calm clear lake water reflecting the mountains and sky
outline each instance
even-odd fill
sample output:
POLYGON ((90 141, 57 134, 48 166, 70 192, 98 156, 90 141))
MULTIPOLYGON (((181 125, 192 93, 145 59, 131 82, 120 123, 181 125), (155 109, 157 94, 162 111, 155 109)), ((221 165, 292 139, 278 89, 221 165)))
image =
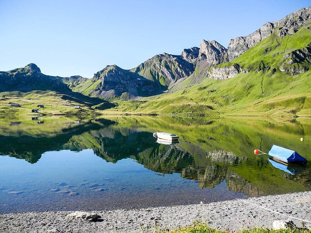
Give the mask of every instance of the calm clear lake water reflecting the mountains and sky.
POLYGON ((309 118, 2 117, 0 213, 171 206, 311 190, 310 132, 309 118), (154 132, 180 138, 164 145, 154 132), (274 144, 308 163, 282 166, 253 152, 274 144))

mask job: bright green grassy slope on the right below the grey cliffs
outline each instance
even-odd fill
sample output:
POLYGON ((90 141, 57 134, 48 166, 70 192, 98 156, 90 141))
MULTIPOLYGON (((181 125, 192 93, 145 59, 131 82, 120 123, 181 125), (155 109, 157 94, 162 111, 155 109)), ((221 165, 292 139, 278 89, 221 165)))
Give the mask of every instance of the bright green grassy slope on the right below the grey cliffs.
MULTIPOLYGON (((243 72, 234 78, 205 79, 175 93, 119 102, 117 110, 147 114, 310 116, 310 61, 299 56, 311 50, 310 26, 283 37, 272 34, 231 63, 218 66, 241 67, 243 72)), ((187 86, 183 82, 179 85, 187 86)))

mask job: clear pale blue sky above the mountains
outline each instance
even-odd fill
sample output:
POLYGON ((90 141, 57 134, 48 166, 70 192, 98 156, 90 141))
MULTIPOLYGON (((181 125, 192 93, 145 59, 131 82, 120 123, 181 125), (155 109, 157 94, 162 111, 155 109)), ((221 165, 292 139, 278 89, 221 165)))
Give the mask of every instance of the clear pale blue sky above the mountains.
POLYGON ((310 0, 0 0, 0 71, 35 63, 47 75, 137 67, 253 33, 310 0))

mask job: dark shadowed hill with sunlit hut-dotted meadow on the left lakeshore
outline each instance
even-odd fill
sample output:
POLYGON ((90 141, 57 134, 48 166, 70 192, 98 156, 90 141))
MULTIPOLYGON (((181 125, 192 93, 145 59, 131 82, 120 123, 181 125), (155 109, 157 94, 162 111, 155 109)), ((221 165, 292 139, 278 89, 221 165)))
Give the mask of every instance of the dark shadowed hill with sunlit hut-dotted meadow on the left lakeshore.
POLYGON ((32 63, 0 72, 0 115, 94 115, 99 114, 97 110, 114 107, 105 100, 70 89, 86 80, 80 76, 48 76, 32 63), (12 103, 19 107, 11 106, 12 103), (32 113, 38 107, 39 113, 32 113))

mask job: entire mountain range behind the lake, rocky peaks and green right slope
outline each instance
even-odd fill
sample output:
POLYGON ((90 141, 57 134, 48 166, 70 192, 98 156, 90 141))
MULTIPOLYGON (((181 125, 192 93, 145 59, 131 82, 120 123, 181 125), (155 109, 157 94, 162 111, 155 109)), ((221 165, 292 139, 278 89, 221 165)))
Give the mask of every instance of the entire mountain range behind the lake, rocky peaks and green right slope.
POLYGON ((91 79, 44 75, 35 64, 2 71, 0 92, 9 98, 16 91, 52 91, 88 98, 80 104, 87 102, 94 110, 117 105, 118 111, 140 113, 239 114, 252 109, 251 115, 273 115, 278 109, 304 116, 311 110, 310 67, 308 7, 231 39, 227 48, 202 40, 200 48, 158 54, 130 70, 106 66, 91 79), (101 102, 114 105, 101 108, 101 102))

